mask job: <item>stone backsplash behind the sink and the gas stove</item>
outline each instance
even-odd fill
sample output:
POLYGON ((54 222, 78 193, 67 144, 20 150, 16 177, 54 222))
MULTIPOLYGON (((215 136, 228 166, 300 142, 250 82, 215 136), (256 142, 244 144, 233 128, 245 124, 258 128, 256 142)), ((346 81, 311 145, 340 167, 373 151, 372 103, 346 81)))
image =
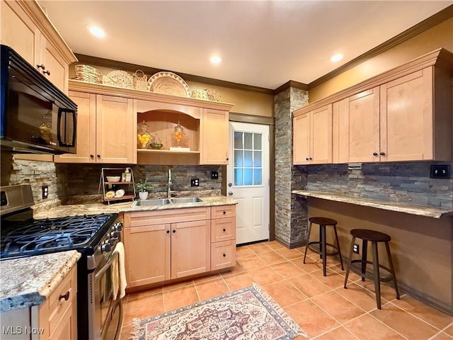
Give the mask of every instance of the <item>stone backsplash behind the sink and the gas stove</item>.
MULTIPOLYGON (((127 165, 125 165, 127 166, 127 165)), ((58 164, 13 159, 8 154, 1 156, 1 185, 29 183, 35 204, 61 200, 71 203, 72 198, 81 201, 83 197, 96 201, 103 167, 117 168, 119 174, 125 166, 120 164, 58 164), (49 196, 42 199, 42 186, 48 186, 49 196)), ((222 166, 183 166, 183 165, 132 165, 134 181, 149 181, 151 196, 166 195, 168 169, 171 169, 172 190, 200 196, 222 194, 222 166), (218 171, 219 178, 211 179, 211 171, 218 171), (200 179, 200 186, 190 186, 190 179, 200 179)))

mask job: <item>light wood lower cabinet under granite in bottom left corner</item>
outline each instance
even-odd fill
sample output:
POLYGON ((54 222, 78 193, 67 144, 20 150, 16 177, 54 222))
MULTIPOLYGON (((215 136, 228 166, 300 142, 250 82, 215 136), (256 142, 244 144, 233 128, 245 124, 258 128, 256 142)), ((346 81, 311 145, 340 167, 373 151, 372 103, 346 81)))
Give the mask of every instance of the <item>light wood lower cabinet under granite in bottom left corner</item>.
POLYGON ((1 312, 1 339, 76 340, 77 269, 41 305, 1 312))

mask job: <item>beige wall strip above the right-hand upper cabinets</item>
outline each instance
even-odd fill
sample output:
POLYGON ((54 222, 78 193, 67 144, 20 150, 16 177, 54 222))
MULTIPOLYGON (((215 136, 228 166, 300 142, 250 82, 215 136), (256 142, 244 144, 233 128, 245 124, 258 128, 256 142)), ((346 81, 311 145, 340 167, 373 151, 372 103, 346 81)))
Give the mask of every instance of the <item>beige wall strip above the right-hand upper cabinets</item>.
POLYGON ((439 47, 453 52, 453 18, 309 90, 309 102, 335 94, 439 47))

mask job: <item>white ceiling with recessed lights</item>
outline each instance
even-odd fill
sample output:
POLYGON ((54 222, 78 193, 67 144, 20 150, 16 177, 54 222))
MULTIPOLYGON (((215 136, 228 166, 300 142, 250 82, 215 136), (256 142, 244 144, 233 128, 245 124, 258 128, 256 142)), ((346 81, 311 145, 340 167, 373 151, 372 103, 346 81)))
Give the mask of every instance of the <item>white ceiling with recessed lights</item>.
POLYGON ((74 53, 276 89, 309 84, 452 1, 40 1, 74 53), (101 26, 95 38, 87 25, 101 26), (336 52, 345 58, 336 64, 336 52), (213 54, 221 64, 210 64, 213 54))

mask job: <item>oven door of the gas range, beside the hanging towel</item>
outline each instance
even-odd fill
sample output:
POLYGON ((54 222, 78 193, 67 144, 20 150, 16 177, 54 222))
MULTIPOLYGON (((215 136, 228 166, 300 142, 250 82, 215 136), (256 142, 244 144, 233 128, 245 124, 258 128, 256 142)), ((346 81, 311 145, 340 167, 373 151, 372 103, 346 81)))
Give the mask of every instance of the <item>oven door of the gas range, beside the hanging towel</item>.
POLYGON ((118 288, 120 281, 118 253, 112 252, 102 268, 94 272, 94 339, 119 339, 122 324, 122 303, 117 291, 114 300, 113 290, 118 288), (117 284, 115 285, 114 280, 117 284))

